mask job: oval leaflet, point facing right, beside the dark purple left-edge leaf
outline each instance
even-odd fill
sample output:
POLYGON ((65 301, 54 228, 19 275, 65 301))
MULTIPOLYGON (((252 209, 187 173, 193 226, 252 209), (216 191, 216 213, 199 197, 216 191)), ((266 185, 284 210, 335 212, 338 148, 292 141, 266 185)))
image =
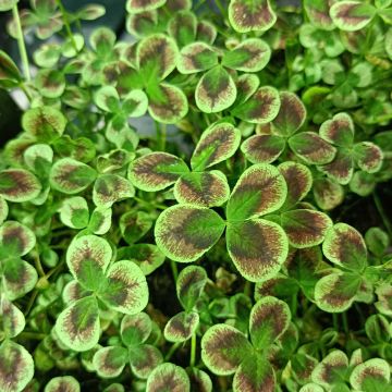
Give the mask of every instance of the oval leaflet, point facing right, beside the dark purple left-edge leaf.
POLYGON ((97 172, 89 166, 72 158, 58 160, 50 171, 53 189, 73 195, 84 191, 96 179, 97 172))

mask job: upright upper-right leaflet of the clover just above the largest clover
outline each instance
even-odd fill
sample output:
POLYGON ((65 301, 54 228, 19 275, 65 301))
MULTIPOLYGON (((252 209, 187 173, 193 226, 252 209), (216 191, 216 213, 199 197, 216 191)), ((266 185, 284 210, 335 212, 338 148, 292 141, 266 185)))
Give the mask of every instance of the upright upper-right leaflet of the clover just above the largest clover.
POLYGON ((210 125, 200 136, 191 158, 194 171, 203 171, 232 157, 240 146, 241 132, 228 122, 210 125))

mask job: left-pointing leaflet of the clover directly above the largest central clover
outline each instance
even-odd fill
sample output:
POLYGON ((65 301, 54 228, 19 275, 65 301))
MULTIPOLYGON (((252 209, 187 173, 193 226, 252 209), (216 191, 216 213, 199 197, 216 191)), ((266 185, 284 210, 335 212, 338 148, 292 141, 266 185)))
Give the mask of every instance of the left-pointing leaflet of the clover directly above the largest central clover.
POLYGON ((187 172, 189 169, 182 159, 167 152, 151 152, 131 162, 128 177, 137 188, 157 192, 187 172))

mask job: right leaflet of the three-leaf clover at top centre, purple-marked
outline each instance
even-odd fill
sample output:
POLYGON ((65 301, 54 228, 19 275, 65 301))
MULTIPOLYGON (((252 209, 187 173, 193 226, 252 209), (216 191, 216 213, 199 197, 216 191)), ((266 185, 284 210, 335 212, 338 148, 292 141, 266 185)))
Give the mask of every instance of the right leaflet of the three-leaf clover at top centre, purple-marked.
POLYGON ((271 49, 260 38, 248 38, 223 54, 222 65, 236 71, 259 72, 269 62, 271 49))

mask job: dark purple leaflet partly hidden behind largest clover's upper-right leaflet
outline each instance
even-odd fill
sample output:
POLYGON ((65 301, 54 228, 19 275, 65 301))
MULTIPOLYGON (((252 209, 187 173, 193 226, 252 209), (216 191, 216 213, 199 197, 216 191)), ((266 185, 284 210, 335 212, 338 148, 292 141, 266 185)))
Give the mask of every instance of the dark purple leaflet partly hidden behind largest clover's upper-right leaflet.
POLYGON ((285 161, 278 167, 287 184, 287 196, 282 209, 290 209, 310 192, 313 176, 310 170, 302 163, 285 161))

